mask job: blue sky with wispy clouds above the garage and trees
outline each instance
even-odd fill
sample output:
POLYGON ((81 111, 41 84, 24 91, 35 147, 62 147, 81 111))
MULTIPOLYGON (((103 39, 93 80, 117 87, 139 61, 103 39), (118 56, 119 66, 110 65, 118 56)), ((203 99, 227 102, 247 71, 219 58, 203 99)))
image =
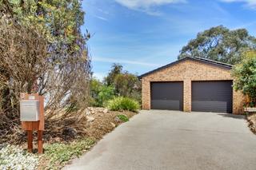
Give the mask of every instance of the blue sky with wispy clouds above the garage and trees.
POLYGON ((175 61, 183 45, 212 26, 256 36, 256 0, 84 0, 82 8, 100 80, 113 63, 139 75, 175 61))

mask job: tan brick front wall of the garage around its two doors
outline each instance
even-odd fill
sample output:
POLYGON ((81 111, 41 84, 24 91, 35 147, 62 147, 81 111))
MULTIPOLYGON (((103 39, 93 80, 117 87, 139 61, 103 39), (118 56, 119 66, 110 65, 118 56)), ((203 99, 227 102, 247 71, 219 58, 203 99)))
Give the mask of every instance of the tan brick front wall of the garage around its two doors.
MULTIPOLYGON (((184 60, 165 69, 158 70, 142 77, 142 109, 150 109, 151 81, 183 81, 185 112, 191 112, 191 81, 224 81, 233 80, 230 69, 208 65, 199 61, 184 60)), ((244 97, 233 90, 233 113, 242 113, 244 97)))

